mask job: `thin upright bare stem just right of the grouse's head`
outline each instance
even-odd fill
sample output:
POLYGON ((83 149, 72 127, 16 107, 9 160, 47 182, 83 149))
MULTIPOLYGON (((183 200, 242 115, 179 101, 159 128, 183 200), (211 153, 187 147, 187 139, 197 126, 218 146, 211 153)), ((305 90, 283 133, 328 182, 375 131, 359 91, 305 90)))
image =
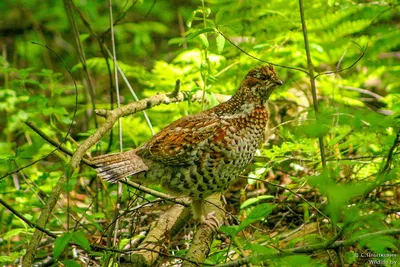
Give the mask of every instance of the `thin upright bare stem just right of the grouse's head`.
MULTIPOLYGON (((303 29, 303 37, 304 37, 304 46, 307 54, 307 65, 308 65, 308 75, 310 77, 311 83, 311 92, 313 97, 313 106, 315 111, 315 118, 318 122, 318 102, 317 102, 317 89, 315 86, 315 77, 314 77, 314 67, 312 64, 311 54, 310 54, 310 47, 308 43, 308 34, 307 34, 307 25, 304 18, 304 7, 303 7, 303 0, 299 0, 299 9, 300 9, 300 18, 301 18, 301 25, 303 29)), ((322 166, 326 167, 326 159, 325 159, 325 148, 324 148, 324 138, 322 136, 318 137, 319 143, 319 151, 321 153, 321 162, 322 166)))

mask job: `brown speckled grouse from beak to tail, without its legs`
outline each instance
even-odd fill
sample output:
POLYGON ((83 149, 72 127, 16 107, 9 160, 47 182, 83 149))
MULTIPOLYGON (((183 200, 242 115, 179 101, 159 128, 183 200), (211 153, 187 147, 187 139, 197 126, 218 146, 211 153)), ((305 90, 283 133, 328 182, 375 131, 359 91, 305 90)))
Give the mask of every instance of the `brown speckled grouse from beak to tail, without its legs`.
POLYGON ((96 169, 109 181, 132 176, 194 200, 223 192, 253 159, 265 102, 281 84, 271 65, 252 69, 227 102, 171 123, 137 149, 95 158, 96 169))

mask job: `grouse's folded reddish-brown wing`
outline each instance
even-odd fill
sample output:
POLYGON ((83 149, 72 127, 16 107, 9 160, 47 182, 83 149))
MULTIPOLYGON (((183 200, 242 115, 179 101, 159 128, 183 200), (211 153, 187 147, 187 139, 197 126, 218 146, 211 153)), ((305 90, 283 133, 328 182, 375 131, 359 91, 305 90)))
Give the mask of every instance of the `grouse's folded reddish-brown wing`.
POLYGON ((167 165, 195 164, 202 153, 215 151, 225 142, 225 131, 220 119, 210 113, 183 117, 138 149, 138 155, 167 165))

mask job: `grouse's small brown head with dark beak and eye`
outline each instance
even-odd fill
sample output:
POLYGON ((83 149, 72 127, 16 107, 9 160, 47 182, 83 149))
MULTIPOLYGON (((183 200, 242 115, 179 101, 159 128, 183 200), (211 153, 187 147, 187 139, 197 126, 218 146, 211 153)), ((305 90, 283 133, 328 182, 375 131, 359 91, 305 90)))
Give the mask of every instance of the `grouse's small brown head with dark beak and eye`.
POLYGON ((282 84, 283 82, 278 79, 274 67, 270 64, 250 70, 242 86, 247 87, 256 98, 267 100, 274 89, 282 84))

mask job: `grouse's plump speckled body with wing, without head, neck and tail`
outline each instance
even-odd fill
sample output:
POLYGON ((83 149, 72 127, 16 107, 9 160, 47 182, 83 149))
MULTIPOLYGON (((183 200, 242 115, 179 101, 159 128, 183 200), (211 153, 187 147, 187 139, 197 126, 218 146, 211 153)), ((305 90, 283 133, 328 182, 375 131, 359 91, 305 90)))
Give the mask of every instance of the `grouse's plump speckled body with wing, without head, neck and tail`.
POLYGON ((263 105, 243 112, 226 105, 181 118, 138 148, 149 168, 138 178, 195 198, 226 190, 253 159, 268 120, 263 105))

